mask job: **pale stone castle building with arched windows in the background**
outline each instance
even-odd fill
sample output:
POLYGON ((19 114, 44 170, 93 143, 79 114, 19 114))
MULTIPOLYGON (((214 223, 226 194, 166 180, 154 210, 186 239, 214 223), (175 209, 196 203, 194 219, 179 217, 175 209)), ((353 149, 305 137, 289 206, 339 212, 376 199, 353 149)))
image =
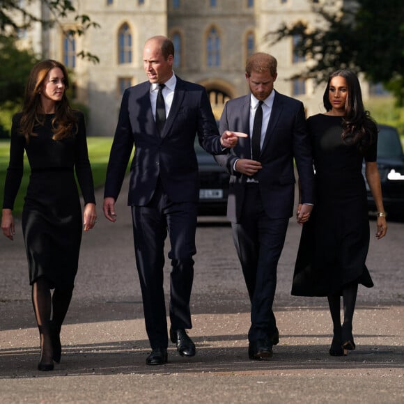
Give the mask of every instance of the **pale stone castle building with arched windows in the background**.
MULTIPOLYGON (((75 100, 88 107, 88 134, 112 136, 125 88, 146 80, 143 45, 150 36, 169 36, 176 47, 174 70, 182 79, 202 84, 220 117, 224 102, 248 92, 244 65, 249 54, 268 52, 278 60, 277 91, 302 100, 307 115, 322 111, 324 86, 311 80, 290 80, 305 58, 294 52, 293 38, 275 45, 265 39, 283 22, 318 24, 313 3, 326 0, 76 0, 79 15, 88 15, 99 28, 84 36, 68 36, 73 18, 43 30, 40 24, 22 35, 43 59, 57 59, 72 72, 75 100), (91 52, 92 63, 77 57, 91 52)), ((24 2, 24 0, 22 0, 24 2)), ((343 0, 334 1, 341 7, 343 0)), ((346 0, 345 0, 346 3, 346 0)), ((40 0, 27 8, 42 17, 49 10, 40 0)))

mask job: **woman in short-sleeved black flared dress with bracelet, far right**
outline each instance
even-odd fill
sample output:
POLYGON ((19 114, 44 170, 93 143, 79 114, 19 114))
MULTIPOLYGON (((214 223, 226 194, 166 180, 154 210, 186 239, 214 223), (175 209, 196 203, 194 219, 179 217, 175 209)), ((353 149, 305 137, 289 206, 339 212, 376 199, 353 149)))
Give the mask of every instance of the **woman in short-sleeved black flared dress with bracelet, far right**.
POLYGON ((352 317, 358 284, 373 286, 365 265, 370 233, 363 160, 378 208, 376 238, 386 235, 387 224, 376 164, 378 130, 364 109, 357 76, 350 70, 334 72, 323 102, 327 112, 307 120, 316 201, 310 220, 308 215, 303 220, 292 295, 327 296, 334 332, 329 354, 342 356, 355 349, 352 317))

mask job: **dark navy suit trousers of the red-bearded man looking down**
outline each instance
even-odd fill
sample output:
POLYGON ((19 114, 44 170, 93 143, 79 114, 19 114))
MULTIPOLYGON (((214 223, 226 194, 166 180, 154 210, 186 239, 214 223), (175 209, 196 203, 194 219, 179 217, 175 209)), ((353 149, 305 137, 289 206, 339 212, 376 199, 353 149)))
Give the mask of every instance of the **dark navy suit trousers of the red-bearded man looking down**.
POLYGON ((288 222, 268 217, 258 183, 247 182, 240 220, 231 227, 251 301, 250 342, 267 339, 277 327, 272 304, 288 222))

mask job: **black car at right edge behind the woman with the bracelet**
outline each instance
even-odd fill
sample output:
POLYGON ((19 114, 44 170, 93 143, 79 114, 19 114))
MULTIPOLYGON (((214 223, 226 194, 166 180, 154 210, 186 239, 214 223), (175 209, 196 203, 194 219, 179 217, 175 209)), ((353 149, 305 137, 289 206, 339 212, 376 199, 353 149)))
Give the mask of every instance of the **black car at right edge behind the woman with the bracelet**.
MULTIPOLYGON (((389 125, 378 127, 378 169, 384 209, 391 217, 404 218, 404 155, 400 136, 395 127, 389 125)), ((366 189, 368 208, 371 212, 375 212, 375 203, 367 182, 366 189)))

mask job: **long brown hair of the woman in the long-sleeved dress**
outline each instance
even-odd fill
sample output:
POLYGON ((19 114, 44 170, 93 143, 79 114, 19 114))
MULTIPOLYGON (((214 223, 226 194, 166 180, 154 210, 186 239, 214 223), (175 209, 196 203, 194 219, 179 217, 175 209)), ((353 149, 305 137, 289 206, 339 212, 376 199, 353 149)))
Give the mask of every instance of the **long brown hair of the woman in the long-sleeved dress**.
MULTIPOLYGON (((36 125, 45 125, 46 116, 40 102, 40 92, 42 91, 47 75, 53 68, 62 70, 65 90, 69 88, 68 72, 62 63, 49 59, 33 66, 26 83, 20 121, 20 132, 24 134, 27 142, 30 136, 36 136, 33 132, 33 128, 36 125)), ((56 102, 55 116, 52 118, 52 130, 54 132, 52 139, 54 140, 65 139, 77 132, 77 118, 70 108, 65 91, 61 101, 56 102)))

